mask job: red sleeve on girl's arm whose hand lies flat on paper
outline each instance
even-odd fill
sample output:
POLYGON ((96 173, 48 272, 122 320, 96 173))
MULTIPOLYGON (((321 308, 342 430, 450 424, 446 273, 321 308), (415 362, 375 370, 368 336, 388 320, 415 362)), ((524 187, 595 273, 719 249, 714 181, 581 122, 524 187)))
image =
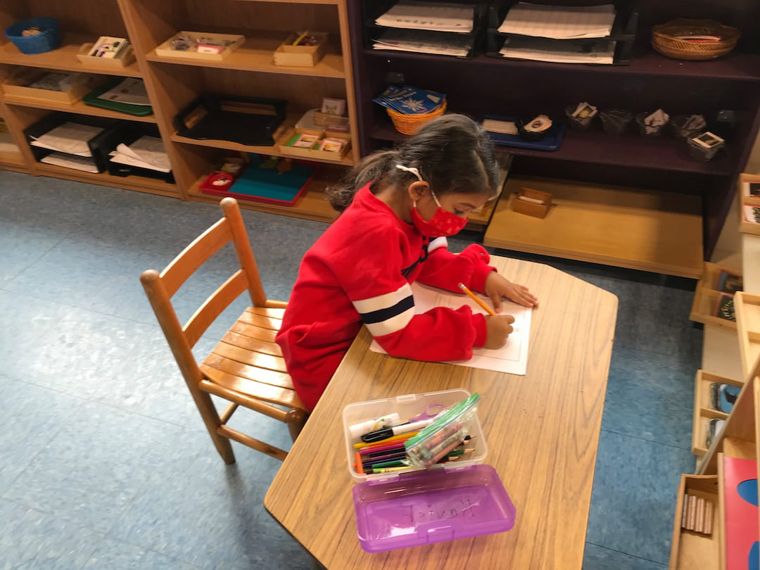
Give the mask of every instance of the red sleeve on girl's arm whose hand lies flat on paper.
POLYGON ((482 245, 467 245, 460 254, 448 251, 445 238, 430 242, 428 258, 417 277, 420 283, 459 292, 458 284, 464 283, 473 291, 486 289, 486 277, 495 267, 488 264, 490 255, 482 245))

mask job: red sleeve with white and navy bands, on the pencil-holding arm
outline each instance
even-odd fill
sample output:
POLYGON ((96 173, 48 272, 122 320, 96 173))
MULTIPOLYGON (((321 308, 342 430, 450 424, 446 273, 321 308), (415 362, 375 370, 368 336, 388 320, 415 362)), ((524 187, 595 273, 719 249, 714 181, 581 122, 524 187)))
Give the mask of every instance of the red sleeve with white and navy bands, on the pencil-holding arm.
MULTIPOLYGON (((356 244, 354 244, 355 246, 356 244)), ((486 320, 469 307, 436 307, 414 313, 410 284, 402 276, 401 247, 392 240, 372 240, 363 257, 340 262, 332 271, 372 337, 391 356, 436 362, 472 357, 486 343, 486 320)))

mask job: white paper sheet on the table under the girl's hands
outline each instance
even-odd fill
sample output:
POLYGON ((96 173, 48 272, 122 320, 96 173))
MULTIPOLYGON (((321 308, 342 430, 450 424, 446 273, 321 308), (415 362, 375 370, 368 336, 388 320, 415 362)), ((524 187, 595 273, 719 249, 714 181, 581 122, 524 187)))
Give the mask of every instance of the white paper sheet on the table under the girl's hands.
MULTIPOLYGON (((459 309, 459 307, 464 305, 470 307, 473 313, 486 314, 477 302, 474 302, 473 299, 464 294, 450 293, 420 283, 412 283, 412 293, 414 295, 414 312, 416 315, 429 311, 433 307, 459 309)), ((480 296, 480 298, 487 304, 490 304, 490 300, 486 299, 486 297, 480 296)), ((515 330, 509 335, 507 344, 504 347, 499 350, 475 348, 473 349, 473 357, 471 359, 452 360, 449 363, 483 370, 496 370, 497 372, 505 372, 507 374, 524 375, 527 369, 530 318, 533 315, 533 309, 528 309, 514 302, 504 301, 502 315, 512 315, 515 317, 515 323, 512 325, 512 328, 515 330)), ((385 353, 385 350, 382 350, 375 340, 372 340, 369 350, 376 353, 385 353)))

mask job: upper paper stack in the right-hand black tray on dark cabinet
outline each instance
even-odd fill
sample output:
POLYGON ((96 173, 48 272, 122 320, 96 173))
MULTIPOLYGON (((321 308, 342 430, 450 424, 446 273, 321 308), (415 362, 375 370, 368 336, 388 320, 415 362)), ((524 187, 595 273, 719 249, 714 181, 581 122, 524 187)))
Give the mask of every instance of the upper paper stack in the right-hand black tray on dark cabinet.
POLYGON ((615 7, 611 4, 548 6, 520 2, 509 9, 499 32, 555 40, 606 37, 614 21, 615 7))

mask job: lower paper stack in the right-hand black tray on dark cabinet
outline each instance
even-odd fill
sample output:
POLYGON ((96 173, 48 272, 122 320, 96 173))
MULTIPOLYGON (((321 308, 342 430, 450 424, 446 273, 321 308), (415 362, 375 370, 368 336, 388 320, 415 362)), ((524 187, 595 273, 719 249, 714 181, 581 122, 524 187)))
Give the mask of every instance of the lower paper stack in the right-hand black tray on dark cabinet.
POLYGON ((573 44, 540 38, 508 38, 499 51, 505 58, 554 63, 603 63, 612 65, 616 42, 573 44))

